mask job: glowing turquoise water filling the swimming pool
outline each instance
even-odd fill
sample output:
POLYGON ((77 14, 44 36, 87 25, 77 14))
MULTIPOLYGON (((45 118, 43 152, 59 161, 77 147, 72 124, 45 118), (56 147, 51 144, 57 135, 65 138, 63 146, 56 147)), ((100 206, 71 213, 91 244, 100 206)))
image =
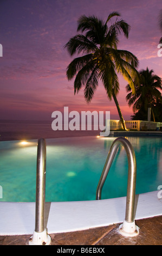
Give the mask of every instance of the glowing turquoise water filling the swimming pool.
MULTIPOLYGON (((115 138, 46 139, 46 202, 95 200, 96 187, 115 138)), ((127 137, 137 158, 136 193, 162 185, 162 138, 127 137)), ((7 202, 35 202, 37 141, 0 142, 0 186, 7 202)), ((126 196, 128 163, 119 147, 102 199, 126 196)))

